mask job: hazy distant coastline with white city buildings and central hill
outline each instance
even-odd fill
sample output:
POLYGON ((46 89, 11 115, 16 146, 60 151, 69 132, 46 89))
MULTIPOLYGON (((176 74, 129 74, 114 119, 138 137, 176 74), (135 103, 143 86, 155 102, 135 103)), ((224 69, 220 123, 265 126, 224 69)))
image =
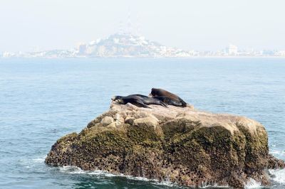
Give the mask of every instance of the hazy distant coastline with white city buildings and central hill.
POLYGON ((144 36, 133 34, 130 29, 122 30, 106 38, 97 38, 88 43, 79 42, 68 49, 41 50, 34 46, 33 50, 24 52, 0 52, 0 58, 9 57, 43 57, 43 58, 85 58, 85 57, 195 57, 195 56, 276 56, 285 57, 285 50, 239 48, 229 43, 220 50, 184 50, 168 47, 157 41, 147 40, 144 36))

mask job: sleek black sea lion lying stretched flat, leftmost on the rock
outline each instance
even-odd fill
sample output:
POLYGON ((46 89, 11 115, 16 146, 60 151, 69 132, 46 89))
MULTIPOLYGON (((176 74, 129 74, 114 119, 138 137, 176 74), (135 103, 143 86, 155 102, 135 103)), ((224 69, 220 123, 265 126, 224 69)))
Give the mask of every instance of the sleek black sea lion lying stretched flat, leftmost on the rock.
POLYGON ((167 107, 167 104, 162 102, 160 99, 147 97, 144 95, 128 95, 126 97, 122 96, 115 96, 112 98, 113 101, 119 103, 119 104, 127 104, 130 102, 131 104, 134 104, 137 107, 145 107, 150 108, 149 104, 157 104, 161 105, 162 107, 167 107))

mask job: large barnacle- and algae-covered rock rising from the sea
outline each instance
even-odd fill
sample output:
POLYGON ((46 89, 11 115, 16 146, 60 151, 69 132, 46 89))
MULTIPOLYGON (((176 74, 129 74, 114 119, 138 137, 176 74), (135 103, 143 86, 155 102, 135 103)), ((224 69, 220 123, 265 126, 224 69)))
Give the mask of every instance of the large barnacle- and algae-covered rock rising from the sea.
POLYGON ((250 178, 268 185, 266 169, 284 168, 269 154, 266 130, 257 121, 191 106, 150 107, 111 104, 81 133, 58 139, 46 163, 234 188, 250 178))

